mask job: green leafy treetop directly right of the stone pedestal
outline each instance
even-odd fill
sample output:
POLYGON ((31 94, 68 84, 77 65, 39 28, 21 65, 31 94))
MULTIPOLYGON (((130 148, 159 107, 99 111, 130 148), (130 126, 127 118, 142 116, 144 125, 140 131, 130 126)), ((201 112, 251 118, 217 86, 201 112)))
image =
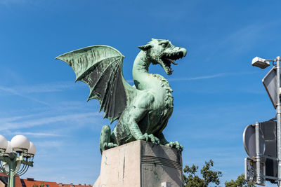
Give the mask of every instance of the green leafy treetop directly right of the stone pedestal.
POLYGON ((223 174, 221 174, 220 171, 215 172, 211 170, 211 167, 213 166, 213 160, 205 162, 205 165, 200 170, 200 174, 202 176, 202 178, 200 178, 200 176, 197 174, 198 166, 192 165, 189 167, 188 165, 185 165, 183 172, 188 174, 187 176, 183 175, 185 187, 207 187, 209 186, 209 183, 215 183, 216 185, 219 185, 221 183, 219 178, 223 176, 223 174))

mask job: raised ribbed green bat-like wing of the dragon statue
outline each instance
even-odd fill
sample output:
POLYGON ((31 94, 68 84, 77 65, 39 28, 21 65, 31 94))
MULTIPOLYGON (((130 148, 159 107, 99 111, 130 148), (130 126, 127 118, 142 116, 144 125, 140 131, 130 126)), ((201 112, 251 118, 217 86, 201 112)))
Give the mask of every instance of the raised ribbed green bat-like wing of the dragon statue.
MULTIPOLYGON (((76 74, 76 81, 83 81, 90 88, 87 99, 98 99, 100 111, 110 123, 117 120, 131 102, 136 88, 124 79, 124 56, 110 46, 89 46, 65 53, 55 59, 66 62, 76 74)), ((75 81, 75 82, 76 82, 75 81)))

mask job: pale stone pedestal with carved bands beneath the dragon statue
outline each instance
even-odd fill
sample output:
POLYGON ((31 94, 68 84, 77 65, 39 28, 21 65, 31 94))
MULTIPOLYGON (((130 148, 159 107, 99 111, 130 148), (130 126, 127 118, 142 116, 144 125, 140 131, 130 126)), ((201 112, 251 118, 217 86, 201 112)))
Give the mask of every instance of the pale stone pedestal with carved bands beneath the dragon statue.
POLYGON ((103 151, 100 176, 93 187, 183 186, 181 151, 133 141, 103 151))

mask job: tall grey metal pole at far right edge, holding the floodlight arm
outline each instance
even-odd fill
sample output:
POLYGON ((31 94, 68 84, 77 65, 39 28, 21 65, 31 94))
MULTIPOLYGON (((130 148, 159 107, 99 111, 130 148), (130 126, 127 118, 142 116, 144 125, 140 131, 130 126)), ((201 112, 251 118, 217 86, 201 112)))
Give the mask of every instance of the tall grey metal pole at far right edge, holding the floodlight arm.
POLYGON ((278 162, 278 186, 281 187, 281 106, 280 106, 280 57, 276 57, 276 71, 277 71, 277 162, 278 162))

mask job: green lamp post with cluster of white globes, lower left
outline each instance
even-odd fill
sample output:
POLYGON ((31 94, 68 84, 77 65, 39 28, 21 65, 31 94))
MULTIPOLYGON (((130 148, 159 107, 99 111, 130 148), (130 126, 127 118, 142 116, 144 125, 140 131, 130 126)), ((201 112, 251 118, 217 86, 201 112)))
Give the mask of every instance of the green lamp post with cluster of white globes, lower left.
POLYGON ((15 187, 15 175, 25 174, 33 167, 36 153, 34 144, 23 135, 16 135, 7 141, 0 135, 0 172, 8 175, 8 187, 15 187))

